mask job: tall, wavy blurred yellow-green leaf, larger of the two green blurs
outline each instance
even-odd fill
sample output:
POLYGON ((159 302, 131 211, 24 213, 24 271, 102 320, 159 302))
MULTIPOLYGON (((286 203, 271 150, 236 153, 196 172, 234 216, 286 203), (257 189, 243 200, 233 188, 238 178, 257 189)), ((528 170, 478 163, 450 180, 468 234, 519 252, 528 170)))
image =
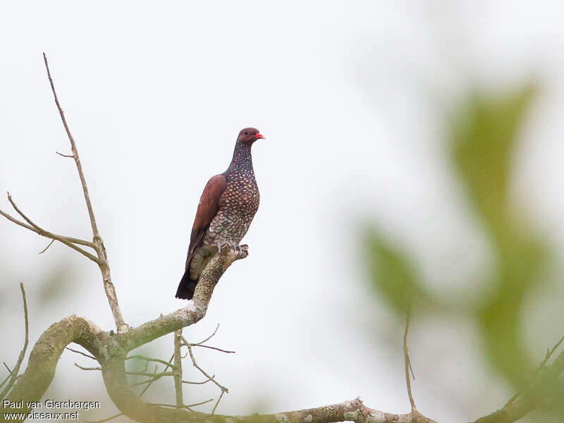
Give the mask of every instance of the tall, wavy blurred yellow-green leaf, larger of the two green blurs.
POLYGON ((496 262, 489 295, 477 309, 484 352, 515 386, 532 372, 520 320, 545 257, 543 245, 508 198, 517 135, 534 94, 532 85, 496 99, 473 94, 455 117, 451 140, 453 164, 482 218, 496 262))

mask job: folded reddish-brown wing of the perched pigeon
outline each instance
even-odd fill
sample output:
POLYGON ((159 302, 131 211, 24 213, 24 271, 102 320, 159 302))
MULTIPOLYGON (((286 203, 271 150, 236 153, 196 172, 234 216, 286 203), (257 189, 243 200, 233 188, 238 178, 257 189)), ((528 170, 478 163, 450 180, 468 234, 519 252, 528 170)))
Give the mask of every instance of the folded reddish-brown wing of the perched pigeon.
POLYGON ((194 225, 192 225, 190 247, 188 247, 188 257, 186 257, 186 269, 190 266, 190 261, 194 256, 196 248, 202 243, 209 223, 212 223, 212 219, 214 219, 217 209, 219 209, 219 198, 223 191, 225 191, 225 188, 226 180, 223 175, 213 176, 207 181, 206 188, 204 188, 202 197, 200 197, 194 225))

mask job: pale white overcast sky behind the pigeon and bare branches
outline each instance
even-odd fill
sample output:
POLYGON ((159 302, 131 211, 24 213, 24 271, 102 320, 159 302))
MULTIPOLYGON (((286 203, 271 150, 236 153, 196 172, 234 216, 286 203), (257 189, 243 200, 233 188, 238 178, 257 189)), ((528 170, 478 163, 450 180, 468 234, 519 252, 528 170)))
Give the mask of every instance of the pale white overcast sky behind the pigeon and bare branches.
MULTIPOLYGON (((472 295, 488 251, 446 161, 445 117, 471 83, 503 92, 534 77, 541 94, 522 134, 515 197, 562 251, 563 18, 557 1, 4 2, 0 191, 51 231, 89 237, 75 166, 55 154, 68 140, 45 51, 121 309, 137 325, 183 305, 174 293, 204 184, 228 166, 240 128, 259 128, 267 139, 253 147, 261 205, 244 240, 250 257, 223 276, 204 321, 185 329, 197 340, 219 322, 215 344, 237 351, 200 353, 231 391, 219 412, 356 396, 407 412, 401 322, 389 326, 393 315, 367 287, 362 223, 408 248, 431 288, 472 295)), ((17 345, 0 346, 1 360, 15 362, 20 348, 19 281, 32 342, 73 313, 112 329, 94 264, 61 245, 38 256, 45 245, 0 221, 1 331, 17 345), (47 301, 39 287, 63 264, 71 285, 47 301)), ((532 353, 557 338, 558 319, 532 335, 542 345, 532 353)), ((510 392, 480 364, 476 339, 465 322, 415 320, 422 412, 462 421, 503 405, 510 392)), ((154 344, 168 359, 172 339, 154 344)), ((102 396, 101 376, 73 361, 59 363, 57 399, 102 396)), ((188 388, 185 401, 209 396, 212 387, 188 388)), ((88 418, 112 412, 103 411, 88 418)))

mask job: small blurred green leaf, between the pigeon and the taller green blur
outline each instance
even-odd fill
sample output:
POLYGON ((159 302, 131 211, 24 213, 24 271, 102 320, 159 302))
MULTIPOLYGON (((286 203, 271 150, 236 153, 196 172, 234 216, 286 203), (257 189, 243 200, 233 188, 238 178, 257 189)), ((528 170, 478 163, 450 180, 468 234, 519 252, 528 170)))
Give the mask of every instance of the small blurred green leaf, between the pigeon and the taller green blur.
POLYGON ((405 314, 412 300, 414 305, 430 301, 405 253, 392 247, 376 231, 369 231, 364 244, 374 288, 396 312, 405 314))

